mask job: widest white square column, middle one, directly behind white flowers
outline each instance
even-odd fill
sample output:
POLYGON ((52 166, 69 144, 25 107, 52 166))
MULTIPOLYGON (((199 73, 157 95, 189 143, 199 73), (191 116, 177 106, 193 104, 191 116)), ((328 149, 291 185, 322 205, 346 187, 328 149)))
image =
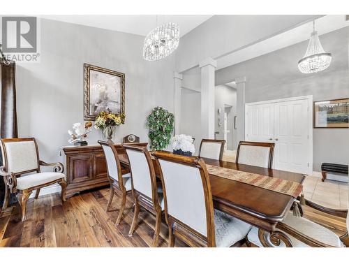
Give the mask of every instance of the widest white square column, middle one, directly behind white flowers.
POLYGON ((214 139, 214 71, 217 62, 207 57, 199 64, 201 68, 201 135, 214 139))

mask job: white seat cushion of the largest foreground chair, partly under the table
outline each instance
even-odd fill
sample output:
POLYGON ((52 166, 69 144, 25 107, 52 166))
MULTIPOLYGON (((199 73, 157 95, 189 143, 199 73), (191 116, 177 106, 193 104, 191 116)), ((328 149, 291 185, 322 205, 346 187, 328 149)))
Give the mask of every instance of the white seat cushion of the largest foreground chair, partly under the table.
POLYGON ((242 240, 251 230, 252 226, 235 217, 214 210, 214 226, 217 247, 230 247, 242 240))

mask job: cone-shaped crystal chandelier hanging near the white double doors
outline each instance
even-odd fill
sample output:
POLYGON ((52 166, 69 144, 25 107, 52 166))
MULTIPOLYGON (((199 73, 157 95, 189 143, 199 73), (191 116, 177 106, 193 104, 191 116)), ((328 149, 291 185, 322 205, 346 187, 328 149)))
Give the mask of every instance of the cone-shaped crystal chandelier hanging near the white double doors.
POLYGON ((298 68, 302 73, 316 73, 325 70, 331 64, 332 56, 325 52, 320 43, 318 32, 315 31, 313 21, 313 32, 309 40, 308 48, 304 57, 299 60, 298 68))

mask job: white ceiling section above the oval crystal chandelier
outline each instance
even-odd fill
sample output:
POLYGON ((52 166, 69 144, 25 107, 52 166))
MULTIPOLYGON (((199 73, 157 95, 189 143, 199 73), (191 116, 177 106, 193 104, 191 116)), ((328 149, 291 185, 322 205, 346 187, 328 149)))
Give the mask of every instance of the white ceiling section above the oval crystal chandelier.
POLYGON ((174 22, 179 24, 180 36, 184 36, 212 15, 39 15, 39 17, 98 27, 129 34, 147 36, 157 24, 174 22))

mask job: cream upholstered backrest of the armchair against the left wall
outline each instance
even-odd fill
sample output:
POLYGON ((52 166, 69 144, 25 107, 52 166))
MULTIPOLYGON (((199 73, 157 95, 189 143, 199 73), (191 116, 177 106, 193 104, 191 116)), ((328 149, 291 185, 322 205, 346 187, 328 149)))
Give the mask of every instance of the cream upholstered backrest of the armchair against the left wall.
POLYGON ((15 175, 40 172, 35 138, 2 138, 1 152, 6 172, 15 175))

